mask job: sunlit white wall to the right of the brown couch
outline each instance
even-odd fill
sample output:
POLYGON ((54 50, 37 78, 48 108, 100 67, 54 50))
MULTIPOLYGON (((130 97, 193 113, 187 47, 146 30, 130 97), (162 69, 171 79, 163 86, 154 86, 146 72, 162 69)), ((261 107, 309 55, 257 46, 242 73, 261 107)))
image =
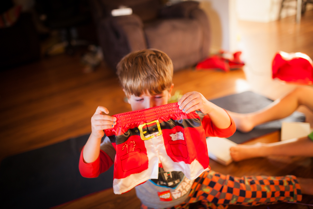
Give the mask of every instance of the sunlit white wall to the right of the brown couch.
MULTIPOLYGON (((176 0, 172 0, 176 1, 176 0)), ((179 1, 179 0, 177 0, 179 1)), ((234 52, 239 50, 237 32, 238 20, 253 22, 270 22, 278 19, 282 0, 198 0, 200 8, 208 15, 211 25, 210 53, 219 50, 234 52)), ((296 0, 289 6, 295 7, 296 0)), ((311 4, 307 10, 312 9, 311 4)), ((284 8, 281 18, 295 15, 295 8, 284 8)))

